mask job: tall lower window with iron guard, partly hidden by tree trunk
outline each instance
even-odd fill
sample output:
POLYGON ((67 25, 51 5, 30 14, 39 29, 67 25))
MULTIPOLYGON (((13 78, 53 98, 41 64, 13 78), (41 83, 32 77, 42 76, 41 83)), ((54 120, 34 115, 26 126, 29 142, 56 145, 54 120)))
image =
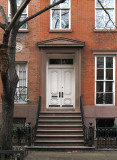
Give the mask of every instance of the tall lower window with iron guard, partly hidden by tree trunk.
POLYGON ((27 102, 27 65, 26 63, 16 64, 16 71, 19 77, 15 92, 15 102, 27 102))

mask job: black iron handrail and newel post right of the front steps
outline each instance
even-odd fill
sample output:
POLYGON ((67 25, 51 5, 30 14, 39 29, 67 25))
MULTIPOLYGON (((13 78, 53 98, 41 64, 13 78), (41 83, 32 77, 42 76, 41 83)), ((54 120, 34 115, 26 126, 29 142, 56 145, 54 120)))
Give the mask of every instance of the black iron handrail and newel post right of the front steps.
POLYGON ((85 124, 85 115, 84 115, 82 96, 80 97, 80 110, 81 110, 81 116, 82 116, 84 143, 85 145, 91 147, 94 144, 94 128, 92 127, 92 123, 89 124, 89 127, 87 127, 85 124))

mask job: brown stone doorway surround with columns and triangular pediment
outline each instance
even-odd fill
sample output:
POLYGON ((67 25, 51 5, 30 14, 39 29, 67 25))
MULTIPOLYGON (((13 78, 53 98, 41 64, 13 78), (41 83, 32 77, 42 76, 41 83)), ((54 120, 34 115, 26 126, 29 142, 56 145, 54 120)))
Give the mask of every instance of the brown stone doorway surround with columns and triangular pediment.
POLYGON ((78 40, 68 39, 64 37, 53 38, 38 42, 38 47, 41 54, 41 111, 47 111, 47 57, 48 55, 74 55, 74 74, 75 74, 75 111, 80 109, 81 95, 81 49, 85 43, 78 40))

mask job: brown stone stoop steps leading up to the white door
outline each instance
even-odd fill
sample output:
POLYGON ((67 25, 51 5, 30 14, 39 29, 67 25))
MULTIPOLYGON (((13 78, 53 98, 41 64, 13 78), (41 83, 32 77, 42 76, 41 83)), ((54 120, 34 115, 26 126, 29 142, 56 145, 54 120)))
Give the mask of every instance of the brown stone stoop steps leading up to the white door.
POLYGON ((80 112, 40 112, 34 150, 86 150, 80 112))

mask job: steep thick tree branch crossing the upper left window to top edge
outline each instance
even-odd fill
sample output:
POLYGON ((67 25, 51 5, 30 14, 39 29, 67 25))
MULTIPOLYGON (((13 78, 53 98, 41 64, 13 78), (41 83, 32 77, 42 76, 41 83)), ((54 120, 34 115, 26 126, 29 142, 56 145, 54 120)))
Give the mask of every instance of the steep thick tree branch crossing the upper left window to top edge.
POLYGON ((16 12, 14 17, 12 18, 11 23, 9 24, 9 26, 7 27, 6 30, 10 31, 13 28, 13 26, 15 25, 15 23, 17 22, 17 20, 19 19, 19 17, 21 16, 23 10, 26 8, 26 6, 28 5, 29 2, 30 2, 30 0, 24 0, 22 2, 22 4, 18 8, 18 11, 16 12))

